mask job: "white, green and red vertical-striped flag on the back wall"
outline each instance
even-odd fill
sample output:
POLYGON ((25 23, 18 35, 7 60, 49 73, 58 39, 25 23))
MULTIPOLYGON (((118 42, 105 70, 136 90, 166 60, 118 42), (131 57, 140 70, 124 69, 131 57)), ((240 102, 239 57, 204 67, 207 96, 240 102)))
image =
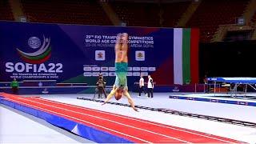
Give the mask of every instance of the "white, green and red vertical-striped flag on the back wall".
POLYGON ((174 29, 174 84, 198 83, 198 29, 174 29))

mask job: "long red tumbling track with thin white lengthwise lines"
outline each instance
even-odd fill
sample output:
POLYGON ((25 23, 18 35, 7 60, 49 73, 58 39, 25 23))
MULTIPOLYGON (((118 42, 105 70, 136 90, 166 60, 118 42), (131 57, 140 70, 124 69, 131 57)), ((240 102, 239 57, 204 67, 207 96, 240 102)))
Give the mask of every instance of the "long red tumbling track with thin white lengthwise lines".
POLYGON ((55 114, 136 143, 242 143, 230 138, 42 98, 22 98, 3 93, 0 95, 11 102, 55 114))

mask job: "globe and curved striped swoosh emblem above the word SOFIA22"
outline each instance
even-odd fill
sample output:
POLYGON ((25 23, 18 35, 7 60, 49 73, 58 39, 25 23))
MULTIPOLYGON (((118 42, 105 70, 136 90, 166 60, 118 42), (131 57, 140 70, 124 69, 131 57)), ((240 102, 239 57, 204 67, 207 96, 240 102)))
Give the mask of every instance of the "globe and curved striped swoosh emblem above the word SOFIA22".
POLYGON ((45 38, 43 35, 43 42, 38 37, 30 37, 27 44, 31 49, 36 50, 32 53, 26 53, 22 50, 18 50, 18 54, 23 61, 32 64, 40 64, 46 62, 50 58, 51 48, 50 48, 50 38, 45 38))

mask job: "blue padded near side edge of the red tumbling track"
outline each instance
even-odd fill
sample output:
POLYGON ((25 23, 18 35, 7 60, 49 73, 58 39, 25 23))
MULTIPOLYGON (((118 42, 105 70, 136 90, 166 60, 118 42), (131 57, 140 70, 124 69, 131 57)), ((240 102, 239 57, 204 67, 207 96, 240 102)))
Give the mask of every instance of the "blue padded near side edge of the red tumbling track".
POLYGON ((78 134, 83 138, 89 139, 98 143, 133 143, 125 138, 118 137, 113 134, 109 134, 102 130, 97 130, 93 127, 82 125, 81 123, 71 121, 60 116, 46 113, 42 110, 37 110, 29 106, 22 106, 21 104, 10 102, 6 99, 1 99, 0 103, 6 106, 10 106, 14 109, 21 110, 26 114, 34 115, 35 117, 42 118, 46 122, 53 124, 54 126, 62 127, 65 130, 69 130, 74 134, 78 134))

